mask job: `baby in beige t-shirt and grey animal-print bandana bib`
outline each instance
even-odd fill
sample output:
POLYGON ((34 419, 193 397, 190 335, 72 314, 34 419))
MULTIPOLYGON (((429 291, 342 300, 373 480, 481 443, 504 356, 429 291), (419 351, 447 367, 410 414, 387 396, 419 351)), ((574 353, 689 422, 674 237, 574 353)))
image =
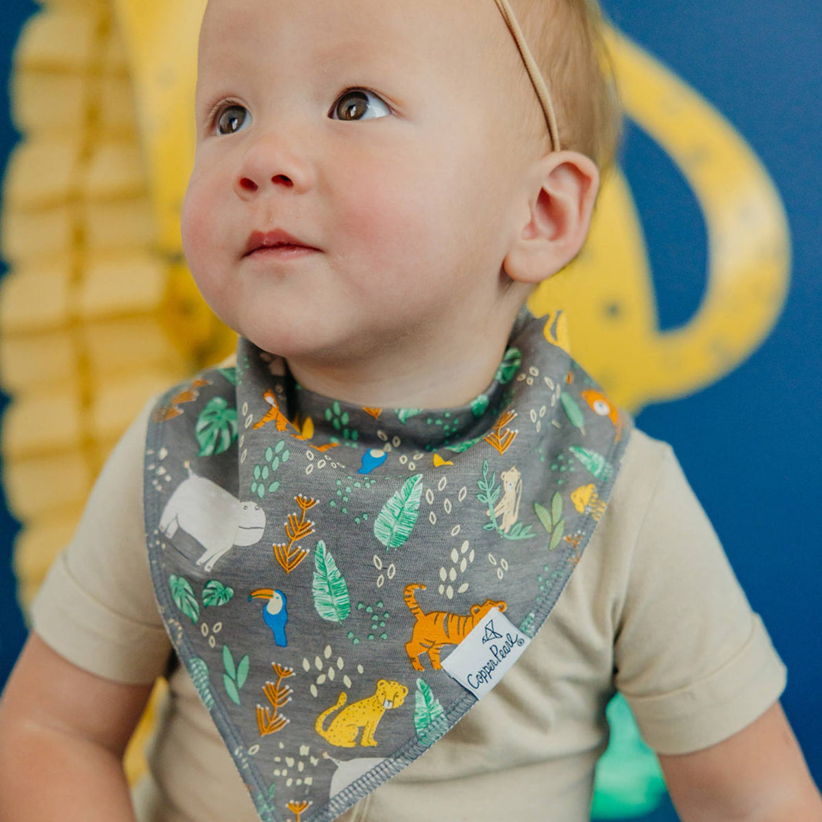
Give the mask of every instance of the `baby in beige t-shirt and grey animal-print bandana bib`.
POLYGON ((822 820, 671 450, 523 308, 612 161, 600 25, 210 0, 182 237, 236 367, 146 406, 49 573, 4 822, 577 822, 617 690, 682 819, 822 820))

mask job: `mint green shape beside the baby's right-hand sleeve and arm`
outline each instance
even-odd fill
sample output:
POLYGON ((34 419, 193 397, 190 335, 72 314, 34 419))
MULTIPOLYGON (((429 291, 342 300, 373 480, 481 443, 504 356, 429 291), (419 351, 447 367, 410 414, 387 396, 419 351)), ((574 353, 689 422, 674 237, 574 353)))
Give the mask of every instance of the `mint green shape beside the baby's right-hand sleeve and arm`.
POLYGON ((656 810, 665 797, 662 769, 640 737, 634 714, 617 694, 607 707, 611 741, 597 764, 592 820, 631 819, 656 810))

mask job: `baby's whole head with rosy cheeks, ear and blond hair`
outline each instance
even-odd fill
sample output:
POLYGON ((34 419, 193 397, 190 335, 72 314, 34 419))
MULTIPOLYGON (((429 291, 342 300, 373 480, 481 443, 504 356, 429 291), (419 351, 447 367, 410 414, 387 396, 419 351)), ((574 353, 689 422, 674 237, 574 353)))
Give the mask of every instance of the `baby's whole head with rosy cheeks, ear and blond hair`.
POLYGON ((388 404, 390 375, 487 371, 584 242, 587 155, 616 122, 589 12, 513 5, 560 151, 495 0, 210 0, 184 247, 215 312, 303 385, 388 404))

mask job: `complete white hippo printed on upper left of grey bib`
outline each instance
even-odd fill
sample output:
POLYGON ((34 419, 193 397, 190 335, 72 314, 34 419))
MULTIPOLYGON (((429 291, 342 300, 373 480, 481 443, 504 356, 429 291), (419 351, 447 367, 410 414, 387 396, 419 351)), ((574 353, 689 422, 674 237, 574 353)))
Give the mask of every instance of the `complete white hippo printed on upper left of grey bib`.
POLYGON ((188 478, 173 492, 159 520, 159 530, 166 538, 172 538, 178 528, 205 548, 197 565, 210 571, 234 546, 260 542, 266 529, 266 512, 254 502, 239 501, 189 468, 188 478))

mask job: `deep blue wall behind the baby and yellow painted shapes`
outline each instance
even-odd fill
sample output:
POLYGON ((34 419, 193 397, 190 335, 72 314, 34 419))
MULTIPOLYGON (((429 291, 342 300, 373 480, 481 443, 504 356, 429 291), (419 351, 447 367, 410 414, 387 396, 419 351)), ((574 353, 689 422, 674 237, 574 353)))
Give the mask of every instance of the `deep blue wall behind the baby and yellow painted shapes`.
MULTIPOLYGON (((785 312, 736 372, 639 424, 672 443, 725 543, 750 602, 789 669, 783 696, 811 773, 822 781, 822 5, 808 0, 606 0, 612 20, 722 111, 769 169, 787 206, 793 279, 785 312)), ((0 16, 0 165, 11 50, 35 6, 0 16)), ((629 127, 623 166, 649 242, 664 328, 685 322, 705 284, 705 228, 663 151, 629 127)), ((0 507, 0 684, 25 640, 10 568, 16 524, 0 507)), ((669 806, 646 817, 674 820, 669 806)))

